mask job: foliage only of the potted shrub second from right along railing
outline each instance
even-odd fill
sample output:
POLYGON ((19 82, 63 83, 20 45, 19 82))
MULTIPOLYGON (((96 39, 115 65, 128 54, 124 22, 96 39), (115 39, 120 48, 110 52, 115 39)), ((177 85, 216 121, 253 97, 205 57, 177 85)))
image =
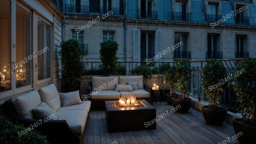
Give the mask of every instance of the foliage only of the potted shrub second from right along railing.
POLYGON ((219 105, 220 98, 223 96, 223 90, 227 87, 227 82, 216 89, 212 89, 215 84, 218 84, 226 78, 226 68, 221 61, 212 59, 202 70, 202 85, 206 98, 209 100, 209 108, 216 109, 219 105))

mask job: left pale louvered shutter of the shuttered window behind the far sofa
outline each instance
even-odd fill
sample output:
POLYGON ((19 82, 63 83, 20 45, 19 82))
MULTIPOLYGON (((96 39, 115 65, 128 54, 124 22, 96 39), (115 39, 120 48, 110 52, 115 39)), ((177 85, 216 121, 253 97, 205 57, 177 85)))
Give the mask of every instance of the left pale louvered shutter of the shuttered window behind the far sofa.
POLYGON ((133 30, 133 62, 140 62, 140 30, 133 30))

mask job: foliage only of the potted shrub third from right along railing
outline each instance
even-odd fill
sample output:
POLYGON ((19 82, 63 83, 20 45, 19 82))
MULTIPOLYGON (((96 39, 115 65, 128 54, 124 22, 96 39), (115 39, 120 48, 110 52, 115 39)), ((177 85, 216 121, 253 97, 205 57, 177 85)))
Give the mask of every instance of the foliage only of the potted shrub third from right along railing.
POLYGON ((179 61, 176 65, 175 86, 177 91, 181 93, 181 99, 189 97, 189 87, 191 83, 191 68, 186 61, 179 61))

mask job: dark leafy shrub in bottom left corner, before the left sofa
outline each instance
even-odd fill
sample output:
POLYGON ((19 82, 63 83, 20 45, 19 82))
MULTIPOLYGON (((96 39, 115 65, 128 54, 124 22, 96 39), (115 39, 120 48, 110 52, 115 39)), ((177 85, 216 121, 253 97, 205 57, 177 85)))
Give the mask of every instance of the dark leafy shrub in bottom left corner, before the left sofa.
POLYGON ((48 144, 46 136, 41 135, 40 132, 33 129, 28 131, 26 134, 18 134, 20 131, 26 130, 23 125, 14 125, 6 117, 0 117, 0 143, 17 143, 17 144, 28 144, 28 143, 40 143, 48 144))

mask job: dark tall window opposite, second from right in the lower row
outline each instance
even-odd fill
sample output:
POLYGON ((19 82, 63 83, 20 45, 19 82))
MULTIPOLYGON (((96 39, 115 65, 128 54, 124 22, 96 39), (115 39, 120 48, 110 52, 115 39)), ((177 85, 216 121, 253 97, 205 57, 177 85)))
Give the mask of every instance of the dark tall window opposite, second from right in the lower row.
POLYGON ((207 36, 207 52, 206 59, 222 59, 222 52, 218 51, 218 36, 208 35, 207 36))

